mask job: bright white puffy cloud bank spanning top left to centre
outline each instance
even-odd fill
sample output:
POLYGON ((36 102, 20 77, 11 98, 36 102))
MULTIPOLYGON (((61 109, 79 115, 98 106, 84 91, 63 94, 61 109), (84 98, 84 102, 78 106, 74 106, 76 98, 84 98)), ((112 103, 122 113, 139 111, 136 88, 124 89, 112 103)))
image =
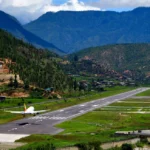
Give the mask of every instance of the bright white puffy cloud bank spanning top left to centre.
POLYGON ((28 23, 48 11, 86 11, 100 8, 89 6, 79 0, 68 0, 61 5, 54 5, 53 0, 0 0, 0 10, 15 16, 22 23, 28 23))

